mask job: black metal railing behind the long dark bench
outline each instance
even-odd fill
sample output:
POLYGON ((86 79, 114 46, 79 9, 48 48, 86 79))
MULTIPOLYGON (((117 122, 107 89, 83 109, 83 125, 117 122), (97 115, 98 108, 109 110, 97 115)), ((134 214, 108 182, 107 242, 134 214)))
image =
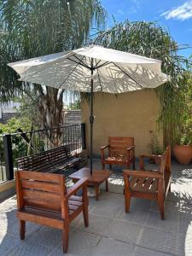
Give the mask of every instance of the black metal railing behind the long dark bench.
POLYGON ((72 154, 85 148, 84 124, 58 126, 36 131, 22 131, 0 137, 0 182, 14 178, 16 159, 37 154, 62 145, 69 145, 72 154))

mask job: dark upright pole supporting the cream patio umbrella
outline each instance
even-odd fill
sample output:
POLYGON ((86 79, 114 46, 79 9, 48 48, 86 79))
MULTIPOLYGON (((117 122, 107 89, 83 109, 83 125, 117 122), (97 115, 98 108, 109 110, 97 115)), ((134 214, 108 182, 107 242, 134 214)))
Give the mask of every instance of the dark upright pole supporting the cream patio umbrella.
POLYGON ((91 58, 90 79, 90 175, 93 173, 93 58, 91 58))

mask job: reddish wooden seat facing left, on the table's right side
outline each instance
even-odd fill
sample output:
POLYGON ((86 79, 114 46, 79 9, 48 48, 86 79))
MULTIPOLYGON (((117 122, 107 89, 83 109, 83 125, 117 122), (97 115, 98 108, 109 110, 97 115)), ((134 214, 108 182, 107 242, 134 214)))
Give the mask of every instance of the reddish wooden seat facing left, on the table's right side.
POLYGON ((158 202, 160 216, 165 218, 165 201, 171 191, 171 147, 168 146, 161 156, 141 155, 140 171, 124 171, 125 212, 129 212, 131 197, 140 197, 158 202), (158 171, 145 171, 144 158, 160 157, 158 171))

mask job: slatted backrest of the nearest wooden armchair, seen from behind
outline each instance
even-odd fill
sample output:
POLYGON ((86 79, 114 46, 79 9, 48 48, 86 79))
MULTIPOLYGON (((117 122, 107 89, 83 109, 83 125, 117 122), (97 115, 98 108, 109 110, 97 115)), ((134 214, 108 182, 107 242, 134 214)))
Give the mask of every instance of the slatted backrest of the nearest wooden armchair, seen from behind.
POLYGON ((67 193, 65 177, 29 171, 17 171, 15 177, 19 210, 36 207, 53 212, 64 212, 61 208, 64 207, 64 198, 67 193))

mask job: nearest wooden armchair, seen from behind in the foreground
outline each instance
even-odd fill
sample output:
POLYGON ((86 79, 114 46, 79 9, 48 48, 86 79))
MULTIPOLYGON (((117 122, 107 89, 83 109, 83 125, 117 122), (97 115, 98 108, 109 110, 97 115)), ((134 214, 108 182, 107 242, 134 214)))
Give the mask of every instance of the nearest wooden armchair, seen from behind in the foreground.
POLYGON ((26 221, 47 225, 63 232, 63 252, 67 253, 69 224, 80 212, 88 226, 88 178, 81 178, 66 189, 65 177, 59 174, 17 171, 17 218, 20 220, 20 239, 25 239, 26 221), (82 189, 82 196, 75 195, 82 189))

